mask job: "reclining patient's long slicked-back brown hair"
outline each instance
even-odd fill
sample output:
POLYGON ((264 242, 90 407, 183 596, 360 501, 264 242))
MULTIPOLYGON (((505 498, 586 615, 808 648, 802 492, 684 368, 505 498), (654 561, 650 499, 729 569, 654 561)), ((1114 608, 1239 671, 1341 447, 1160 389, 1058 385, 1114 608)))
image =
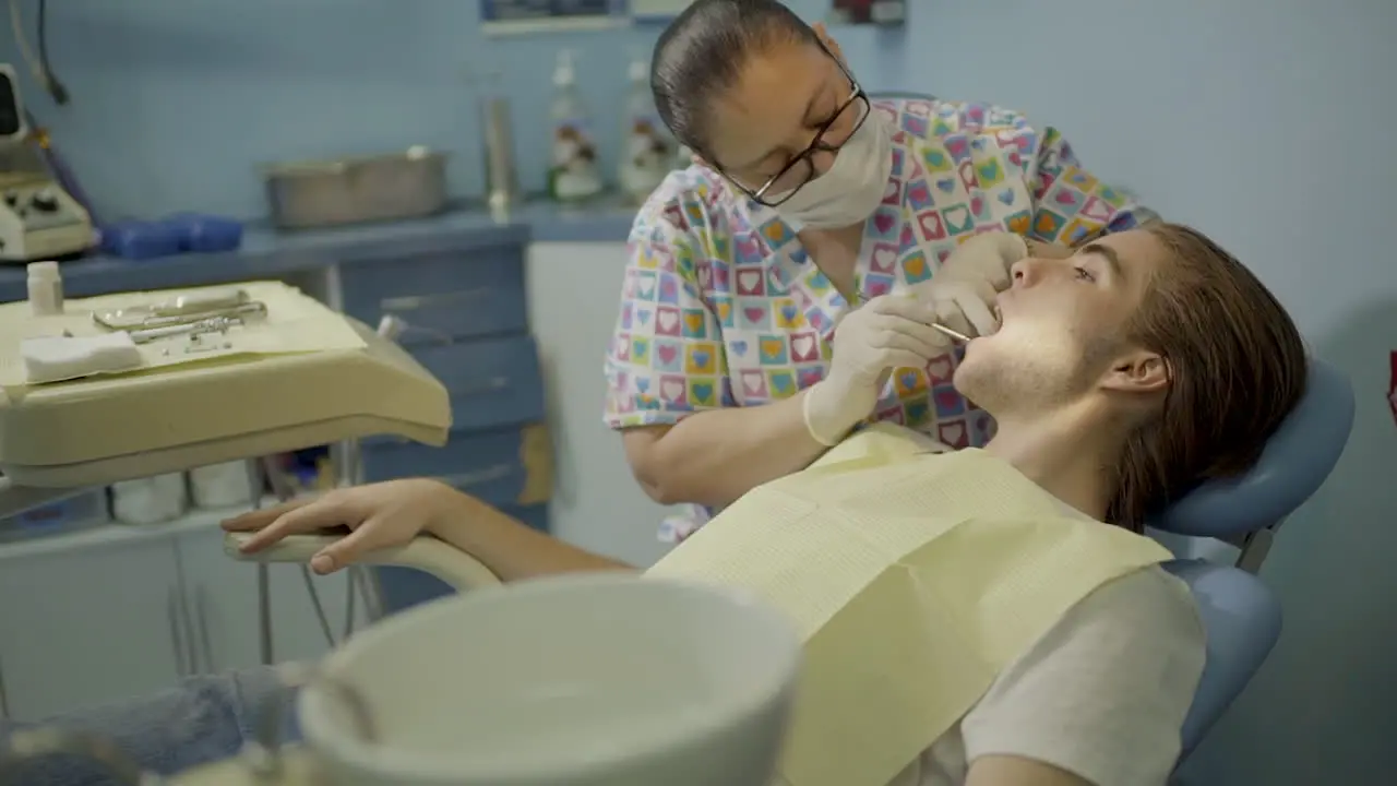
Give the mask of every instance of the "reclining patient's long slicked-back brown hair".
POLYGON ((1171 259, 1126 331, 1164 357, 1171 383, 1158 417, 1130 435, 1106 512, 1136 531, 1200 483, 1252 467, 1308 375, 1295 323, 1250 270, 1196 229, 1147 231, 1171 259))

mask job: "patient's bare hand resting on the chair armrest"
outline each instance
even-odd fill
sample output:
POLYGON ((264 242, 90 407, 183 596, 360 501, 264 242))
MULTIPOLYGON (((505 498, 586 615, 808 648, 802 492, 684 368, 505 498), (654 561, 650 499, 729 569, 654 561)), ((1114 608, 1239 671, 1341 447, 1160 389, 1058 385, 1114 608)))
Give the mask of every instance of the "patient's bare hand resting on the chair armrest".
POLYGON ((348 530, 310 559, 313 571, 330 573, 369 551, 407 544, 423 531, 460 519, 472 505, 479 502, 434 480, 391 480, 243 513, 224 522, 224 529, 256 533, 243 543, 243 552, 260 551, 292 534, 348 530))

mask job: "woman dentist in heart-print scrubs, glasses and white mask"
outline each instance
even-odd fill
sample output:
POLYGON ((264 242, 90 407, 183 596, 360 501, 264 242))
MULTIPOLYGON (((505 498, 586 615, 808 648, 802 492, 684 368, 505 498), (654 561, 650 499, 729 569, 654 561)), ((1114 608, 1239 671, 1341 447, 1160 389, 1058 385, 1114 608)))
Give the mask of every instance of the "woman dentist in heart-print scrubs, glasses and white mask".
POLYGON ((651 81, 696 162, 630 232, 605 421, 651 498, 693 505, 666 540, 869 418, 983 445, 993 425, 928 322, 993 330, 1025 243, 1065 255, 1153 217, 1023 115, 870 101, 823 25, 777 0, 697 0, 651 81), (1006 232, 1006 264, 942 266, 979 232, 1006 232))

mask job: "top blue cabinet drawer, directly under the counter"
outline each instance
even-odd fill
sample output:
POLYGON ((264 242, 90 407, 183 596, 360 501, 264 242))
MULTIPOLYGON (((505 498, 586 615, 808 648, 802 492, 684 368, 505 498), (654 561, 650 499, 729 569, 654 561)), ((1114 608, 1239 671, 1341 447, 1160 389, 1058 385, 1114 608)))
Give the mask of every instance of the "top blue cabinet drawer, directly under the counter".
POLYGON ((345 313, 401 317, 402 344, 528 330, 522 246, 348 263, 341 281, 345 313))

